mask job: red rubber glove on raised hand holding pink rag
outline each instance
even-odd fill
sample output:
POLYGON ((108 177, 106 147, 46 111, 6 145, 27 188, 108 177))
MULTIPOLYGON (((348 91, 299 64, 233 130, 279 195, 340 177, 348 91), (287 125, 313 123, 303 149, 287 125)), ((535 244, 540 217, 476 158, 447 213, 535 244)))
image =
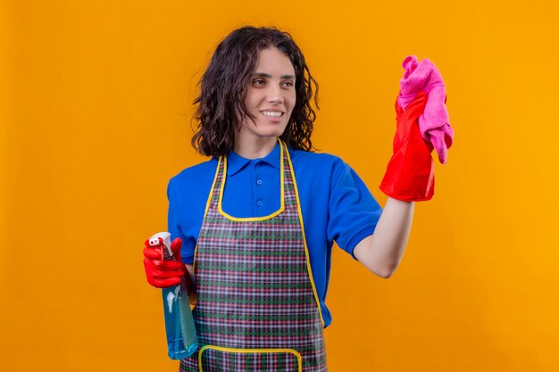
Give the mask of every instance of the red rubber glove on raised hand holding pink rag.
POLYGON ((427 103, 427 94, 420 91, 405 111, 396 102, 396 135, 393 155, 380 190, 393 199, 405 202, 430 200, 435 189, 433 145, 421 137, 419 117, 427 103))

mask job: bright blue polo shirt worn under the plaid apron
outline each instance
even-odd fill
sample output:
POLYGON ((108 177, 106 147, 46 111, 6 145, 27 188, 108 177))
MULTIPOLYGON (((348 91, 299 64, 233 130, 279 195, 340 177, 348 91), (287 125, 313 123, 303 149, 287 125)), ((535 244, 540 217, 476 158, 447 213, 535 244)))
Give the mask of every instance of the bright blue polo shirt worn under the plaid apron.
MULTIPOLYGON (((332 244, 336 242, 353 256, 355 245, 374 232, 382 209, 355 170, 337 156, 293 149, 288 152, 296 176, 314 285, 327 327, 331 323, 325 300, 332 244)), ((217 163, 213 158, 184 169, 171 178, 167 187, 169 232, 171 239, 182 239, 185 263, 191 264, 194 259, 217 163)), ((280 209, 279 144, 261 159, 229 153, 222 208, 240 218, 263 217, 280 209)))

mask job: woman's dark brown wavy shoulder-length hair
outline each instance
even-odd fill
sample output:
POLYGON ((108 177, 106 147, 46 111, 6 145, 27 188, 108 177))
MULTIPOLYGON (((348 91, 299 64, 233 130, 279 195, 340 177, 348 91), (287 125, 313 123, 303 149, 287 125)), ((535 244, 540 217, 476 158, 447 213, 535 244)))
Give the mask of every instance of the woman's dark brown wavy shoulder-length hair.
POLYGON ((252 117, 245 107, 246 86, 263 49, 278 48, 293 64, 296 75, 296 104, 288 126, 280 138, 291 148, 313 151, 311 134, 318 109, 318 83, 313 79, 305 56, 293 38, 284 31, 252 26, 233 30, 215 49, 200 79, 200 95, 194 101, 198 122, 192 145, 198 153, 219 157, 235 147, 240 123, 252 117))

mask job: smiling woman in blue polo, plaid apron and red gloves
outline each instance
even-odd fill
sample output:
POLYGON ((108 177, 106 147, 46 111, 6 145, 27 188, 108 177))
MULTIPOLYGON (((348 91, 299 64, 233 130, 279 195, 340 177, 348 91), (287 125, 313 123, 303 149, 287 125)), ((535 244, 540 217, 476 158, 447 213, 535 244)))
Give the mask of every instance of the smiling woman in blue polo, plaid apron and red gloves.
MULTIPOLYGON (((144 260, 151 285, 188 274, 197 293, 201 349, 181 371, 325 371, 333 242, 380 277, 402 258, 413 201, 432 194, 432 174, 418 181, 413 159, 430 159, 430 149, 397 154, 395 139, 382 211, 346 163, 312 152, 317 91, 298 46, 273 28, 234 30, 205 70, 192 144, 211 159, 168 186, 184 264, 155 265, 147 249, 144 260)), ((400 112, 398 130, 417 126, 424 104, 421 95, 400 112)))

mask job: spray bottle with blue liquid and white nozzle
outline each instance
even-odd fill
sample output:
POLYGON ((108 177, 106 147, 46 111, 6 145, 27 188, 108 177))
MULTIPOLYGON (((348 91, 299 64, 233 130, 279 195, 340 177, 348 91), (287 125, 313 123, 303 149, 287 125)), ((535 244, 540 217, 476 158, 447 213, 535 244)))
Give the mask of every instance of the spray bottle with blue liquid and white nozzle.
MULTIPOLYGON (((171 234, 157 233, 149 238, 149 245, 162 250, 162 260, 175 260, 171 251, 171 234), (160 238, 163 244, 160 244, 160 238)), ((169 358, 187 358, 198 348, 198 339, 184 277, 179 285, 163 288, 163 309, 169 358)))

